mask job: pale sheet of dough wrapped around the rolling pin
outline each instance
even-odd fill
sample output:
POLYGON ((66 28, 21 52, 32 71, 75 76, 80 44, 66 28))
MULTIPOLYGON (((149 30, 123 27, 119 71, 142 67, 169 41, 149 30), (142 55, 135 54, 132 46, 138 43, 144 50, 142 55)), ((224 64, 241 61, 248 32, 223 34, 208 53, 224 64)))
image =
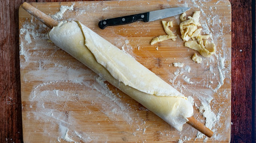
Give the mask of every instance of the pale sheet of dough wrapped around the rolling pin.
POLYGON ((178 131, 193 115, 184 95, 80 22, 60 22, 47 36, 178 131))

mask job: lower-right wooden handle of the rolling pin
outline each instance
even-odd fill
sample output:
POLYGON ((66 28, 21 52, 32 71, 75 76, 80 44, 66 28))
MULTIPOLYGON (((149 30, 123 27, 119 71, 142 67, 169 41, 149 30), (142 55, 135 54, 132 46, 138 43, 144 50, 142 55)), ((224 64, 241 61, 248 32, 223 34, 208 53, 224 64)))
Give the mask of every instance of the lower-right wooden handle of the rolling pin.
POLYGON ((208 137, 211 137, 213 135, 213 132, 209 128, 204 126, 201 122, 199 122, 194 117, 189 117, 187 119, 188 119, 187 124, 189 124, 190 126, 194 127, 199 132, 203 133, 204 135, 206 135, 208 137))

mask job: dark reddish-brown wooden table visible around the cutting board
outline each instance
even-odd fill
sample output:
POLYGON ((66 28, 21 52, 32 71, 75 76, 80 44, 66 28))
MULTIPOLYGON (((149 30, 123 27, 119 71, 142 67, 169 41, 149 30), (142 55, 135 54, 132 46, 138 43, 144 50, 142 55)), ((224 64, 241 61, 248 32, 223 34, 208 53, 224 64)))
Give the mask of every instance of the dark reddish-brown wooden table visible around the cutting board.
MULTIPOLYGON (((27 0, 60 2, 78 0, 27 0)), ((81 1, 81 0, 79 0, 81 1)), ((0 143, 23 142, 18 8, 24 0, 0 0, 0 143)), ((255 0, 232 7, 231 142, 255 140, 255 0), (240 52, 242 50, 243 52, 240 52)))

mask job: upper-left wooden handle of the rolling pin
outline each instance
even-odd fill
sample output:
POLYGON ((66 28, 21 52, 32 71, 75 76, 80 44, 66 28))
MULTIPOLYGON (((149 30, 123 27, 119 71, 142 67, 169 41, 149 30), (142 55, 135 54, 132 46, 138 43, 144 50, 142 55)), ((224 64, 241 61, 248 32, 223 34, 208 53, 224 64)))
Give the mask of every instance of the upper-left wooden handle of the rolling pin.
POLYGON ((50 16, 44 14, 42 11, 36 9, 32 5, 28 4, 27 2, 24 2, 21 6, 26 11, 28 11, 32 16, 34 16, 36 19, 41 21, 43 24, 45 24, 49 28, 53 28, 54 26, 58 25, 58 22, 51 18, 50 16))

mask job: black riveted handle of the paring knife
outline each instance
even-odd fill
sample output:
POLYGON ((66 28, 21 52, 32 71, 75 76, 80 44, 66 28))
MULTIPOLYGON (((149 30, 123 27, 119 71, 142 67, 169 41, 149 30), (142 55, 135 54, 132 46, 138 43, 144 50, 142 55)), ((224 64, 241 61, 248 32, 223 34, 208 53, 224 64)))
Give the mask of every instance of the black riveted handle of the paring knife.
POLYGON ((148 22, 148 17, 149 17, 149 12, 111 18, 111 19, 105 19, 99 22, 99 28, 105 29, 107 26, 130 24, 136 21, 148 22))

